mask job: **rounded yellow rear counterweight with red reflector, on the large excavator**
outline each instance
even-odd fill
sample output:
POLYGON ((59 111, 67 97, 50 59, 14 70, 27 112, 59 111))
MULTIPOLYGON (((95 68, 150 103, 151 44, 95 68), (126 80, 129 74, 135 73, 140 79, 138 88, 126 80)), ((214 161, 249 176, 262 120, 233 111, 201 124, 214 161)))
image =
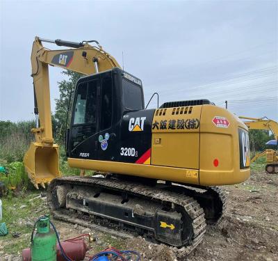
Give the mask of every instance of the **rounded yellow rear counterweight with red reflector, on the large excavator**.
POLYGON ((247 130, 243 122, 226 109, 204 105, 200 121, 199 183, 204 186, 236 184, 250 177, 250 168, 240 169, 238 128, 247 130), (217 127, 215 116, 229 121, 229 127, 217 127), (218 159, 219 165, 213 161, 218 159))

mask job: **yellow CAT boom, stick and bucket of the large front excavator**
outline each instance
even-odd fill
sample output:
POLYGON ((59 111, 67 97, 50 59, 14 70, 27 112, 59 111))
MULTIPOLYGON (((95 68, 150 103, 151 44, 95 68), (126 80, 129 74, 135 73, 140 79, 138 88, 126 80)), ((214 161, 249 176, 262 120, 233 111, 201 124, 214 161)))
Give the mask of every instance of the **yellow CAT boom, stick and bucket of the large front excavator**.
POLYGON ((59 148, 54 143, 52 134, 48 66, 89 75, 115 67, 120 68, 120 65, 95 40, 67 42, 38 37, 35 37, 33 42, 31 65, 36 116, 36 127, 31 131, 35 134, 35 142, 31 143, 24 156, 24 166, 31 182, 38 189, 38 184, 44 187, 44 183, 60 176, 59 148), (72 48, 49 50, 43 47, 42 42, 72 48), (97 46, 89 45, 88 42, 95 42, 97 46))

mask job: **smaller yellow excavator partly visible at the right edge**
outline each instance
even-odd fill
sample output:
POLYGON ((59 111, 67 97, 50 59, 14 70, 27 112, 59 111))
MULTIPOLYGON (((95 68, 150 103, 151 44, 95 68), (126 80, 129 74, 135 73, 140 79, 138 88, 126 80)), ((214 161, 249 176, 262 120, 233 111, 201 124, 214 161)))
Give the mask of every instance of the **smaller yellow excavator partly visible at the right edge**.
MULTIPOLYGON (((266 129, 272 132, 277 144, 278 123, 275 120, 270 120, 268 118, 250 118, 245 116, 239 116, 239 118, 245 120, 244 123, 247 125, 248 129, 266 129)), ((266 149, 257 153, 252 157, 251 162, 256 161, 256 159, 259 159, 260 157, 266 158, 265 171, 267 173, 278 173, 278 145, 277 150, 266 149)))

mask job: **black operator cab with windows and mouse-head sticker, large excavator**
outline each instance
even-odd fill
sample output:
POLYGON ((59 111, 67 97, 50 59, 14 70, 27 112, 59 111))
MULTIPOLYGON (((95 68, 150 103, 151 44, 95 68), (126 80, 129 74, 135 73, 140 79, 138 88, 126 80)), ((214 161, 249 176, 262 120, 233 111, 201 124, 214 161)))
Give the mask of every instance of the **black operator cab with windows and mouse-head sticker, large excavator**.
POLYGON ((74 93, 67 156, 117 160, 113 150, 119 147, 124 113, 144 108, 142 81, 120 68, 82 77, 74 93))

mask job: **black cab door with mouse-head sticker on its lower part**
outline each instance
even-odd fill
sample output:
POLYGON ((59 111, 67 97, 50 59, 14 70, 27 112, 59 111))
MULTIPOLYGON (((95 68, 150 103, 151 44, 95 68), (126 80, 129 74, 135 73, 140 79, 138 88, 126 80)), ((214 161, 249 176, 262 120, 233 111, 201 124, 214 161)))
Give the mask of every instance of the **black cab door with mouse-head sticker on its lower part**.
POLYGON ((113 161, 120 121, 113 124, 115 97, 111 72, 83 78, 76 87, 70 157, 113 161))

